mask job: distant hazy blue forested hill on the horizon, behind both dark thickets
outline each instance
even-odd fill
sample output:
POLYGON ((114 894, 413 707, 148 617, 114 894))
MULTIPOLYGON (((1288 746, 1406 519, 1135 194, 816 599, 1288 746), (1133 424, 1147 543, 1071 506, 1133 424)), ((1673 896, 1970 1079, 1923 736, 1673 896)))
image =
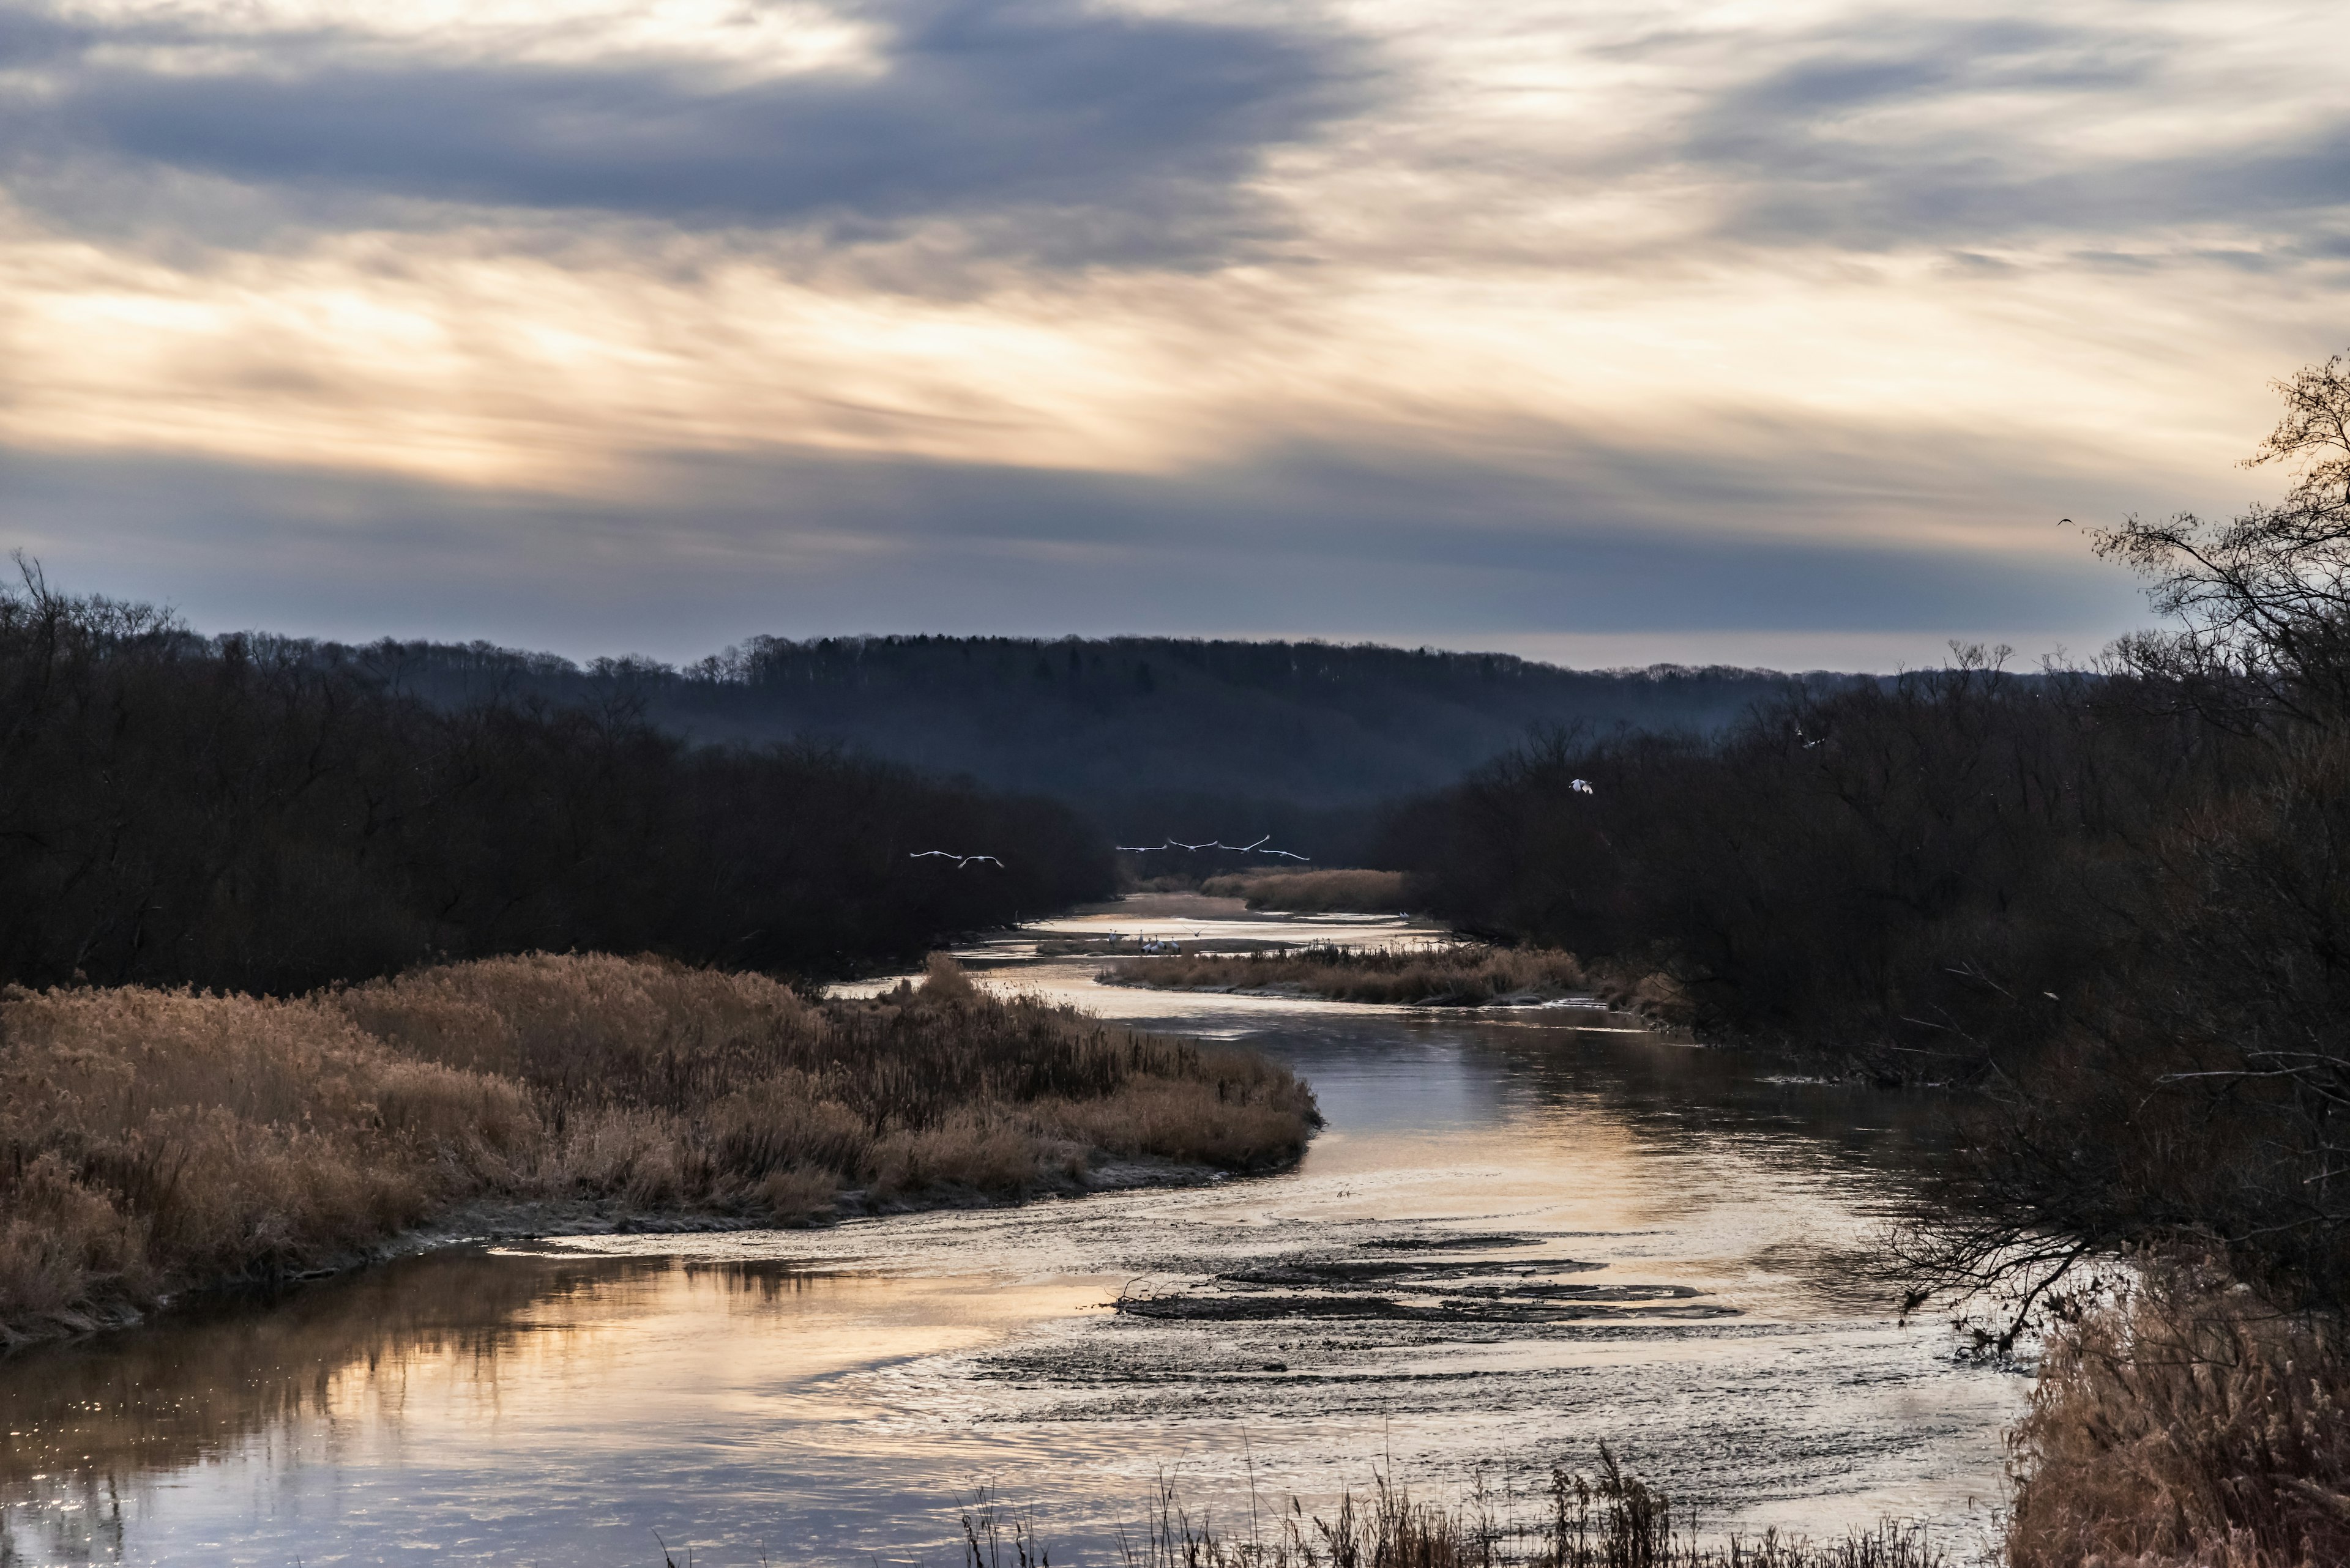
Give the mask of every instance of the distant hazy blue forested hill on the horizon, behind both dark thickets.
POLYGON ((1716 731, 1767 670, 1584 672, 1506 654, 1175 637, 757 637, 672 670, 486 644, 320 649, 432 703, 632 703, 698 741, 818 741, 1036 790, 1121 837, 1307 835, 1342 853, 1379 799, 1459 778, 1537 724, 1716 731))

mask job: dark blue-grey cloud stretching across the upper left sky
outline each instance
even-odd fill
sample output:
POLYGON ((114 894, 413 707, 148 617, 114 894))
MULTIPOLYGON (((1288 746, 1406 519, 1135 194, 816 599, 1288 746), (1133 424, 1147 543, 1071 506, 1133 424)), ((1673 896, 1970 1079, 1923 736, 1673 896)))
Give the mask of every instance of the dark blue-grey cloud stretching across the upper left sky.
POLYGON ((893 0, 870 16, 886 21, 874 61, 754 80, 630 56, 388 54, 334 33, 221 61, 200 31, 35 21, 0 40, 45 78, 0 139, 52 207, 101 165, 270 190, 331 223, 571 212, 853 240, 959 221, 1055 266, 1194 266, 1274 223, 1248 193, 1264 153, 1358 110, 1372 80, 1335 31, 1081 0, 893 0))

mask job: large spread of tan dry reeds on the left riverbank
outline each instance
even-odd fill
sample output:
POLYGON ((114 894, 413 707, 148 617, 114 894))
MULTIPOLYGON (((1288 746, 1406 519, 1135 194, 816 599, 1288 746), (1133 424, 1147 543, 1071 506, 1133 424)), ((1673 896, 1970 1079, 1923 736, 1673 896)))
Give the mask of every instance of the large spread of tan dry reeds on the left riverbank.
POLYGON ((479 959, 298 999, 0 992, 0 1345, 331 1267, 479 1199, 797 1222, 1100 1157, 1295 1159, 1262 1056, 921 985, 808 1001, 658 959, 479 959))

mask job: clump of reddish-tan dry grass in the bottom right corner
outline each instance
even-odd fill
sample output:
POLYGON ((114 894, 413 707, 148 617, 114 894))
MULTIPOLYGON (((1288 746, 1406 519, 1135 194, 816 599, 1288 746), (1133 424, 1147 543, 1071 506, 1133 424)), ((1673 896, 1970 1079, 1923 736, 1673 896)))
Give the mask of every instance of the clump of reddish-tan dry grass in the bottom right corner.
POLYGON ((2012 1568, 2350 1563, 2343 1349, 2218 1269, 2148 1269, 2049 1347, 2012 1434, 2012 1568))

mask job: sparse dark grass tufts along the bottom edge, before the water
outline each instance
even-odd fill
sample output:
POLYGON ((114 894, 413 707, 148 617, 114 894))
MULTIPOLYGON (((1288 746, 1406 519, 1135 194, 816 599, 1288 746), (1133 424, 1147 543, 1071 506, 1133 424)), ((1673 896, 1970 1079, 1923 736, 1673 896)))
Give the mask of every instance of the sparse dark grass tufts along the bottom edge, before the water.
MULTIPOLYGON (((1034 1521, 985 1493, 964 1509, 966 1568, 1046 1568, 1050 1549, 1034 1521)), ((1295 1497, 1248 1533, 1194 1519, 1175 1488, 1159 1486, 1140 1530, 1121 1537, 1126 1568, 1948 1568, 1929 1533, 1906 1523, 1812 1542, 1767 1533, 1704 1540, 1671 1497, 1629 1474, 1600 1446, 1596 1476, 1551 1469, 1546 1507, 1535 1516, 1497 1509, 1478 1495, 1462 1505, 1419 1502, 1401 1481, 1375 1474, 1328 1514, 1295 1497)))

